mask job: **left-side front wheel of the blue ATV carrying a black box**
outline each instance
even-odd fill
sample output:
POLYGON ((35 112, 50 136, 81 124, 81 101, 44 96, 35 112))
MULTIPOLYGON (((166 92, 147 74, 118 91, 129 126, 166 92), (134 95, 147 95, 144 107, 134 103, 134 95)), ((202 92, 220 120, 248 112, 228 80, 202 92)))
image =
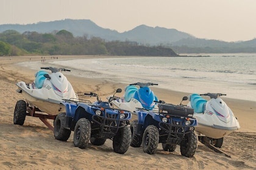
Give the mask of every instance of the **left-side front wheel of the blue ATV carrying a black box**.
POLYGON ((143 151, 148 154, 155 154, 157 151, 158 141, 159 132, 157 127, 154 125, 146 127, 142 139, 143 151))

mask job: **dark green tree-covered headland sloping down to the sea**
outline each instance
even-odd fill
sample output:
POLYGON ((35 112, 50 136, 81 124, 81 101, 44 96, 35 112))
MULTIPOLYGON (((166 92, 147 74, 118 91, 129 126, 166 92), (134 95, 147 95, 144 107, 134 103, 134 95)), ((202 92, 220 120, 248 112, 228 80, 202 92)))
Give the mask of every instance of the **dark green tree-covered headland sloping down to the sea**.
POLYGON ((123 55, 123 56, 177 56, 168 47, 147 47, 137 42, 105 41, 87 35, 74 37, 71 32, 19 33, 6 30, 0 33, 0 56, 3 55, 123 55))

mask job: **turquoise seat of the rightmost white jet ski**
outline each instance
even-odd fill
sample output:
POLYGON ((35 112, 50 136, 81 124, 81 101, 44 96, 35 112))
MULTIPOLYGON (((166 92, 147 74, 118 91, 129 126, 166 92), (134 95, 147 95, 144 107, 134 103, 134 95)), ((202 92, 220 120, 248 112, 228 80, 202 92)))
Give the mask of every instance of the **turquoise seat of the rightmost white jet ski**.
POLYGON ((206 102, 207 102, 207 100, 205 100, 198 94, 190 95, 191 107, 194 109, 194 112, 196 112, 196 113, 204 112, 206 102))

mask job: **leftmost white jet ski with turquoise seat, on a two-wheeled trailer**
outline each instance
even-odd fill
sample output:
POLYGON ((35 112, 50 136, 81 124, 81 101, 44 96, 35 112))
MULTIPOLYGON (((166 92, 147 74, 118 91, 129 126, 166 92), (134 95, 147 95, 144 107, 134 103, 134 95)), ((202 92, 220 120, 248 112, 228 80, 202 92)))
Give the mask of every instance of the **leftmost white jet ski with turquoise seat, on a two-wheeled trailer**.
POLYGON ((51 73, 39 70, 35 73, 33 83, 26 84, 24 81, 16 83, 17 92, 23 95, 27 104, 37 107, 41 112, 49 115, 65 112, 65 106, 60 104, 63 100, 78 100, 73 87, 62 73, 70 70, 55 67, 41 67, 41 69, 51 70, 51 73))

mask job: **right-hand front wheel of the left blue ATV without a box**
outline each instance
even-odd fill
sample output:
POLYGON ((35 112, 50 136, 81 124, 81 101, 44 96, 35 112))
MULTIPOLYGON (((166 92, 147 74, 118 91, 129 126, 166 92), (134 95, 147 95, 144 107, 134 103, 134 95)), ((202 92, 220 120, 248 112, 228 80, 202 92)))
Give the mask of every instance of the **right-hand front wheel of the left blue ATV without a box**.
POLYGON ((128 126, 118 129, 117 134, 113 137, 113 149, 118 154, 124 154, 129 146, 132 133, 128 126))

